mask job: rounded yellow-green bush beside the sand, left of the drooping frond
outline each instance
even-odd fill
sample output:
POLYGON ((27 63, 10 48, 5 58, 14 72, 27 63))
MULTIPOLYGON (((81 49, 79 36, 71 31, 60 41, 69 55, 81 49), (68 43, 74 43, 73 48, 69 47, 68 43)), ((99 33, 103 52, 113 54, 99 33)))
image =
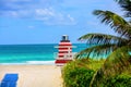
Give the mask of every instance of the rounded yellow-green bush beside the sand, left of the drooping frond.
POLYGON ((91 79, 104 61, 80 59, 68 63, 62 70, 64 87, 90 87, 91 79), (87 64, 88 63, 88 64, 87 64))

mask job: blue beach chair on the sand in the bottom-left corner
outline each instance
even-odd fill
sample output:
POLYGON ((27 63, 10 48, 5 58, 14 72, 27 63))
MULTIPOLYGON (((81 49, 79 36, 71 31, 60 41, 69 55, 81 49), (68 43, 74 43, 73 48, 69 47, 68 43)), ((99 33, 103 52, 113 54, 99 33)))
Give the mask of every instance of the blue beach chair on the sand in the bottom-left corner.
POLYGON ((0 87, 16 87, 17 74, 5 74, 0 87))

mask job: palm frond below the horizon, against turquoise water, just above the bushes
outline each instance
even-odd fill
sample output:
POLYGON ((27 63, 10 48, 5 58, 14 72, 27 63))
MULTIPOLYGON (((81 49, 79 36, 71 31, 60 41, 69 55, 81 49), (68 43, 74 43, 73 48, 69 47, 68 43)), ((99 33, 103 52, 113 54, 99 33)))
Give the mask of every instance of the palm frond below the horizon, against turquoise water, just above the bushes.
POLYGON ((112 50, 116 49, 116 45, 99 45, 94 46, 91 48, 86 48, 76 54, 76 59, 95 59, 95 58, 105 58, 108 55, 112 50))

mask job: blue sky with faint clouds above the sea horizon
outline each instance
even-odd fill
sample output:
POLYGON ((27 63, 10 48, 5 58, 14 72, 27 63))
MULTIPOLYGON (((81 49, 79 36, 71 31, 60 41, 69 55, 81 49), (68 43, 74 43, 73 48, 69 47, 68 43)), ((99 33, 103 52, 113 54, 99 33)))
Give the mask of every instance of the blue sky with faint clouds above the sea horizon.
POLYGON ((114 0, 0 0, 0 45, 72 42, 88 33, 115 34, 92 14, 110 10, 121 14, 114 0))

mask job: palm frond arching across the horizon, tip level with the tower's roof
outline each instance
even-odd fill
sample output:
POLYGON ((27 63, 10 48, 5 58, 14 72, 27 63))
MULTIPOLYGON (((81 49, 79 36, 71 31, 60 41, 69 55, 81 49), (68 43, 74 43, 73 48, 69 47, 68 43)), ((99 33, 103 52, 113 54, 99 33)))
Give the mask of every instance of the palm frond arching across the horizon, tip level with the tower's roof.
POLYGON ((116 45, 126 45, 128 39, 120 38, 112 35, 105 35, 105 34, 86 34, 79 38, 79 40, 87 40, 87 44, 98 44, 98 45, 108 45, 108 44, 116 44, 116 45))

